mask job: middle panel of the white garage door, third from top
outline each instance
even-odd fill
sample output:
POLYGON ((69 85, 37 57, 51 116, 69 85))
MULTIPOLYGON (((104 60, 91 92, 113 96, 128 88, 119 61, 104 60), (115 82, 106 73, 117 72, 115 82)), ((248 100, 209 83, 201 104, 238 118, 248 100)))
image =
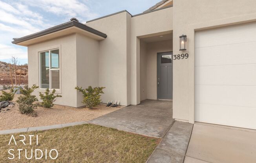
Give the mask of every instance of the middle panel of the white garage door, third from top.
POLYGON ((256 64, 195 67, 195 85, 256 85, 256 64))

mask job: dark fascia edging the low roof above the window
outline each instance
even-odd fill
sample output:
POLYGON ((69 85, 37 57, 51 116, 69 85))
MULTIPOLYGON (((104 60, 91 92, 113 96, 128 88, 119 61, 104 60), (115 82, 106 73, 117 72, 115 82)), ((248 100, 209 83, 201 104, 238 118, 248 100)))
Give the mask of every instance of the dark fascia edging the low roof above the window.
POLYGON ((48 29, 46 29, 44 31, 40 31, 38 33, 30 34, 30 35, 27 35, 27 36, 24 36, 24 37, 21 37, 21 38, 15 38, 12 43, 16 44, 16 43, 24 42, 24 41, 30 40, 32 38, 37 38, 39 36, 43 36, 43 35, 46 35, 46 34, 49 34, 49 33, 54 33, 56 31, 60 31, 62 29, 66 29, 66 28, 73 27, 73 26, 74 27, 78 27, 80 29, 84 29, 85 31, 91 32, 93 34, 97 34, 98 36, 101 36, 103 38, 107 37, 107 35, 105 33, 102 33, 100 31, 97 31, 96 29, 88 27, 85 24, 82 24, 82 23, 77 22, 77 21, 69 21, 69 22, 66 22, 66 23, 63 23, 63 24, 56 25, 54 27, 48 28, 48 29))

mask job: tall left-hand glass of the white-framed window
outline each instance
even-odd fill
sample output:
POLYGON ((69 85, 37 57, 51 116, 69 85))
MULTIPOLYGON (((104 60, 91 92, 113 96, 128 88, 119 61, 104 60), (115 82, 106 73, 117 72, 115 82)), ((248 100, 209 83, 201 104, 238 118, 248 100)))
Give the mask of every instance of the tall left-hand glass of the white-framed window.
POLYGON ((40 53, 40 88, 49 88, 49 52, 40 53))

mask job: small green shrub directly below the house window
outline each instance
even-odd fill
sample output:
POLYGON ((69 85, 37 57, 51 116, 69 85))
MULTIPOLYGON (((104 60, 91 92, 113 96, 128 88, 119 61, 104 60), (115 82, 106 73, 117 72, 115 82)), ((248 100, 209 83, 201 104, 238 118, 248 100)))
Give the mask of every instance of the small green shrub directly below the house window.
POLYGON ((57 97, 62 97, 60 95, 54 95, 54 93, 56 92, 55 89, 53 89, 53 91, 51 93, 49 93, 49 89, 46 89, 44 94, 42 94, 41 92, 39 92, 39 96, 40 99, 43 100, 41 103, 42 107, 46 107, 46 108, 50 108, 53 107, 53 102, 56 101, 55 98, 57 97))

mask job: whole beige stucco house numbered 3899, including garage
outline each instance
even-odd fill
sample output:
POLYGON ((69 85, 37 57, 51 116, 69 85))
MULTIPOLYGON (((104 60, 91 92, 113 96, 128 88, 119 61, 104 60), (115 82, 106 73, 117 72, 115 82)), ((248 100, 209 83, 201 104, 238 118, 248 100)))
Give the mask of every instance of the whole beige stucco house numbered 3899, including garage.
POLYGON ((163 0, 13 43, 28 49, 36 95, 57 89, 56 104, 81 107, 75 86, 104 86, 104 102, 173 100, 176 120, 256 129, 255 0, 163 0))

